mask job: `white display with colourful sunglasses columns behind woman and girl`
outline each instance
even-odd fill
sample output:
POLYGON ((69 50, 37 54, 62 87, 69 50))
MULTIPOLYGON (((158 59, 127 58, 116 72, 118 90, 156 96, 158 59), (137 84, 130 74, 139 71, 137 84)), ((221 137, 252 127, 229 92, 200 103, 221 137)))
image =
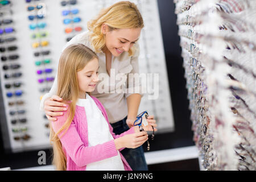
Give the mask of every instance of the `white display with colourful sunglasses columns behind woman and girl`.
MULTIPOLYGON (((87 30, 86 22, 100 9, 115 2, 0 1, 1 129, 7 151, 50 147, 48 119, 39 106, 55 78, 60 53, 68 40, 87 30)), ((139 42, 140 71, 159 73, 159 97, 148 100, 145 94, 139 112, 155 115, 158 133, 169 132, 174 121, 157 1, 132 2, 141 10, 145 24, 139 42)))

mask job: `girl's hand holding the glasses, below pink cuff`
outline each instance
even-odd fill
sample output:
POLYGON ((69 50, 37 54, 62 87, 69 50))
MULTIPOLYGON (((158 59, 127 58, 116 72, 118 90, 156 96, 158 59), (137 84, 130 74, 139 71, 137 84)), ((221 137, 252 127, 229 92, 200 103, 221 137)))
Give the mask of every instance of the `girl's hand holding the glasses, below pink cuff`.
POLYGON ((146 131, 128 134, 123 137, 114 140, 115 148, 119 150, 120 148, 137 148, 141 146, 148 139, 148 134, 146 131))

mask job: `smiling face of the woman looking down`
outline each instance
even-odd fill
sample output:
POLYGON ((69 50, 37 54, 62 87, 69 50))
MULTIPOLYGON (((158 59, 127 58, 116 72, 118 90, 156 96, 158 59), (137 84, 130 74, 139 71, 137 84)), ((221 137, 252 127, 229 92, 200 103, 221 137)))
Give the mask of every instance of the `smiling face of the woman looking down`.
MULTIPOLYGON (((102 29, 104 28, 107 30, 108 26, 104 24, 102 29)), ((123 28, 113 31, 105 30, 102 30, 102 32, 105 34, 106 48, 109 49, 113 56, 119 56, 123 51, 129 51, 141 35, 141 28, 123 28)))

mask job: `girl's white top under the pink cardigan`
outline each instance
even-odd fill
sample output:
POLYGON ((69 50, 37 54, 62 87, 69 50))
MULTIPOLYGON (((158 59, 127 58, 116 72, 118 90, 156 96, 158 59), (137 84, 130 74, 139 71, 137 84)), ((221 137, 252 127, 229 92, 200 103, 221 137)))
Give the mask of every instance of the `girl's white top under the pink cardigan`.
MULTIPOLYGON (((113 136, 109 131, 108 122, 94 100, 87 93, 86 99, 79 98, 76 105, 82 106, 85 109, 89 147, 113 139, 113 136)), ((121 156, 119 151, 117 152, 117 156, 87 164, 86 171, 124 171, 125 168, 121 156)))

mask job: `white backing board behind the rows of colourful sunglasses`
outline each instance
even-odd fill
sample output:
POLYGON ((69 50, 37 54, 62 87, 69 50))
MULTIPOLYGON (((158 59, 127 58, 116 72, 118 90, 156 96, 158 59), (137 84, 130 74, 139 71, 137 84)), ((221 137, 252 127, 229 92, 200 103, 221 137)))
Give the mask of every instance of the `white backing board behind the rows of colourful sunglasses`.
MULTIPOLYGON (((0 35, 1 39, 15 37, 14 42, 1 43, 0 47, 17 46, 16 51, 5 51, 0 52, 2 56, 19 55, 16 60, 1 61, 1 88, 3 105, 5 107, 6 121, 1 118, 1 122, 7 123, 7 130, 9 133, 10 147, 13 152, 35 150, 40 148, 49 147, 49 129, 46 127, 48 120, 44 118, 44 112, 39 110, 40 97, 44 93, 47 93, 52 85, 52 78, 55 77, 57 71, 57 65, 59 62, 60 52, 63 49, 67 38, 79 34, 78 31, 72 31, 67 34, 65 28, 81 27, 82 31, 86 31, 86 23, 97 15, 98 11, 102 7, 112 5, 117 1, 89 1, 80 0, 77 1, 76 5, 61 6, 62 1, 26 1, 15 0, 11 1, 11 6, 6 5, 1 7, 13 14, 4 14, 0 18, 12 19, 13 23, 2 24, 1 28, 13 27, 14 32, 0 35), (42 5, 43 8, 37 10, 36 5, 42 5), (28 6, 34 6, 35 10, 28 11, 28 6), (63 10, 78 9, 79 13, 76 15, 69 14, 67 16, 62 15, 63 10), (43 19, 29 20, 29 15, 40 15, 44 14, 43 19), (79 23, 64 24, 64 18, 75 18, 80 17, 79 23), (44 28, 35 28, 31 30, 31 23, 39 23, 38 26, 42 26, 42 23, 46 23, 44 28), (40 24, 41 23, 41 24, 40 24), (32 39, 31 35, 47 32, 47 36, 43 38, 32 39), (38 46, 34 43, 42 43, 43 41, 48 42, 48 46, 38 46), (32 45, 38 46, 33 48, 32 45), (35 56, 35 52, 50 51, 48 55, 35 56), (51 60, 51 63, 42 64, 44 60, 51 60), (38 62, 40 61, 40 62, 38 62), (41 63, 40 65, 36 65, 41 63), (3 70, 3 65, 19 64, 18 69, 3 70), (42 73, 38 75, 37 71, 45 69, 52 69, 51 73, 42 73), (22 76, 19 78, 5 78, 5 74, 22 72, 22 76), (46 81, 48 78, 51 81, 46 81), (42 83, 39 83, 39 79, 44 79, 42 83), (15 81, 22 82, 19 88, 10 89, 5 88, 5 84, 13 84, 15 81), (45 92, 39 90, 46 89, 45 92), (7 97, 6 94, 15 90, 22 90, 22 96, 7 97), (9 106, 9 102, 23 101, 23 105, 9 106), (24 114, 10 115, 10 111, 25 110, 24 114), (20 119, 26 118, 25 123, 21 123, 20 119), (16 123, 13 124, 11 121, 16 119, 16 123), (13 132, 13 129, 21 129, 26 127, 26 131, 13 132), (20 137, 27 134, 30 136, 29 139, 24 140, 20 137), (19 140, 15 140, 14 137, 19 137, 19 140)), ((135 2, 139 10, 142 13, 145 27, 142 30, 141 39, 139 40, 141 54, 139 56, 139 67, 141 73, 159 73, 159 97, 156 100, 148 100, 148 94, 144 94, 141 101, 139 111, 147 110, 149 114, 154 114, 158 122, 158 133, 170 132, 174 130, 174 120, 172 116, 172 106, 170 90, 168 89, 168 75, 166 62, 164 57, 163 41, 160 28, 160 20, 158 13, 157 1, 132 1, 135 2)), ((44 24, 43 24, 44 25, 44 24)), ((33 28, 33 27, 32 27, 33 28)), ((46 42, 44 42, 46 43, 46 42)), ((15 95, 15 94, 14 94, 15 95)))

